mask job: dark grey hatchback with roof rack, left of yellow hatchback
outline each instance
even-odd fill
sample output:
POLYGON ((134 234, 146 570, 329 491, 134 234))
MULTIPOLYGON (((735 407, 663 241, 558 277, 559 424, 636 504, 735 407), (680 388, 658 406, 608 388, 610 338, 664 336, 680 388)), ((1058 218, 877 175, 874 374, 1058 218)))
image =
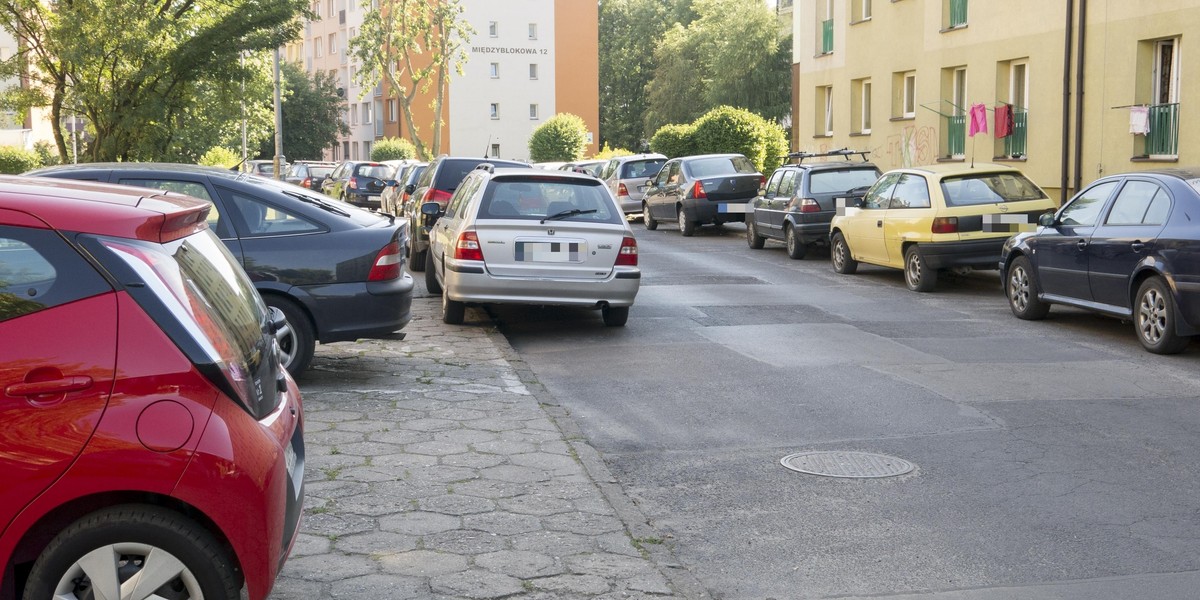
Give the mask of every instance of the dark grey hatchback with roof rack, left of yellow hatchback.
POLYGON ((828 246, 838 198, 862 197, 880 178, 878 167, 866 161, 868 154, 848 149, 788 154, 796 162, 775 169, 762 196, 750 203, 746 244, 758 250, 768 239, 780 240, 792 258, 804 258, 810 246, 828 246), (862 160, 853 161, 853 156, 862 160), (845 160, 804 162, 833 157, 845 160))

